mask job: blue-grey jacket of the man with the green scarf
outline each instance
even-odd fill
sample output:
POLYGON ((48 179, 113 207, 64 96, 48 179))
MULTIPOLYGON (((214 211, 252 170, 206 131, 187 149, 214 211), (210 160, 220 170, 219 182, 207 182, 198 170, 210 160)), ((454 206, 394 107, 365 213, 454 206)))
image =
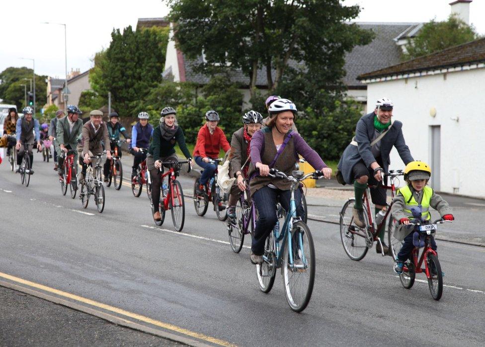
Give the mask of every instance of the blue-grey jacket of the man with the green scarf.
MULTIPOLYGON (((357 122, 355 127, 355 141, 358 146, 349 144, 345 151, 343 151, 340 161, 338 162, 338 170, 343 175, 345 182, 352 184, 354 177, 352 175, 352 168, 355 164, 361 160, 365 163, 365 166, 370 168, 371 164, 376 161, 376 158, 371 152, 370 143, 374 138, 374 112, 368 115, 362 116, 357 122)), ((391 160, 389 158, 391 149, 396 147, 399 156, 403 160, 404 164, 412 162, 411 153, 409 147, 407 147, 403 136, 403 123, 396 120, 391 129, 381 139, 381 158, 383 161, 384 172, 388 172, 391 160)))

